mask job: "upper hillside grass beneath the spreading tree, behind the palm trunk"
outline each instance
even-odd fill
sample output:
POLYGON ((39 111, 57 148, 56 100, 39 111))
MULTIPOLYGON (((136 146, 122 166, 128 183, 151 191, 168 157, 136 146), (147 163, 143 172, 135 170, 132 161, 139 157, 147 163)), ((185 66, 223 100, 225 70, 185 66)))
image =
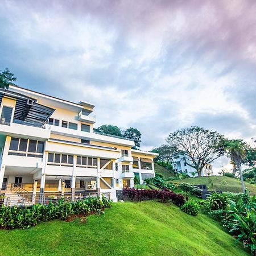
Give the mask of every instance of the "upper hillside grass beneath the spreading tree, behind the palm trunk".
MULTIPOLYGON (((226 177, 226 176, 213 176, 213 177, 196 177, 196 178, 187 178, 174 180, 174 182, 185 182, 191 184, 207 184, 208 190, 221 190, 229 192, 242 192, 241 181, 226 177), (212 183, 210 182, 213 182, 212 183)), ((245 182, 245 187, 248 188, 251 192, 251 195, 256 195, 256 186, 250 183, 245 182)))

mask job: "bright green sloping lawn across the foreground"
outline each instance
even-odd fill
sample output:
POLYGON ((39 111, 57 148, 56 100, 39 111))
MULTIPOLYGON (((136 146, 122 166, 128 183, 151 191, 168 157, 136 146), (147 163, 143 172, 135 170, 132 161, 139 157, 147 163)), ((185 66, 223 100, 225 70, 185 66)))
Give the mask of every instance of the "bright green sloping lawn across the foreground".
POLYGON ((221 226, 155 201, 115 203, 86 223, 0 230, 0 255, 249 255, 221 226))

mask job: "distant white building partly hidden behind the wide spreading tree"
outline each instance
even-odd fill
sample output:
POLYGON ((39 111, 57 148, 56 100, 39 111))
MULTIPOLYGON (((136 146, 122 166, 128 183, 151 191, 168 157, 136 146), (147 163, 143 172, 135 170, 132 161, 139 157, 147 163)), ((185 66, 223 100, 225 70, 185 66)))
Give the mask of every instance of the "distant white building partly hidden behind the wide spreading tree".
MULTIPOLYGON (((189 164, 192 164, 191 159, 188 159, 182 154, 174 154, 172 155, 172 167, 177 173, 183 173, 187 174, 189 176, 193 176, 192 172, 196 172, 195 168, 189 166, 189 164)), ((213 170, 211 164, 206 164, 205 167, 202 170, 201 176, 212 176, 213 170)), ((196 172, 195 177, 197 177, 198 174, 196 172)))

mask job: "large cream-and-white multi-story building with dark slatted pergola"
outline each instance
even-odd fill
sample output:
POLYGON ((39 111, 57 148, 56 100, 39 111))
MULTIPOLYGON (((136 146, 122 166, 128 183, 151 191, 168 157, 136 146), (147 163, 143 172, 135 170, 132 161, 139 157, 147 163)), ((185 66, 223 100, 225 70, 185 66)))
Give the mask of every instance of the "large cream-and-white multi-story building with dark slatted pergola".
POLYGON ((10 85, 0 89, 0 189, 5 195, 108 193, 154 176, 158 154, 94 133, 94 105, 10 85))

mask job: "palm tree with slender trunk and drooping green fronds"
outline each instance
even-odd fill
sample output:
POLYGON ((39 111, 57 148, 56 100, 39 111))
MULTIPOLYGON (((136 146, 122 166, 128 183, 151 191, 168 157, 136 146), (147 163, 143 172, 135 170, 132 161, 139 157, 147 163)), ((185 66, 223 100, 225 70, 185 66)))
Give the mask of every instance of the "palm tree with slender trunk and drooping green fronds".
POLYGON ((245 183, 243 182, 242 174, 242 161, 246 157, 246 143, 242 139, 226 139, 224 141, 224 150, 227 152, 227 155, 231 158, 231 161, 236 164, 237 170, 240 173, 240 179, 242 183, 243 193, 245 193, 245 183))

